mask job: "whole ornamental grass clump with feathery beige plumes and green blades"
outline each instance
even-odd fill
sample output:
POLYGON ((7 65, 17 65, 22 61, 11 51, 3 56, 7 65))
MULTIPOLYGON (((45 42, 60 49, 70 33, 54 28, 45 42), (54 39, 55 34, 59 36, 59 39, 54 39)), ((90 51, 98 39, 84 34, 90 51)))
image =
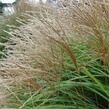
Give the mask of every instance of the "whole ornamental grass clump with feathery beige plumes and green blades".
POLYGON ((7 32, 8 56, 1 60, 5 106, 108 109, 109 2, 40 5, 23 15, 28 23, 7 32))

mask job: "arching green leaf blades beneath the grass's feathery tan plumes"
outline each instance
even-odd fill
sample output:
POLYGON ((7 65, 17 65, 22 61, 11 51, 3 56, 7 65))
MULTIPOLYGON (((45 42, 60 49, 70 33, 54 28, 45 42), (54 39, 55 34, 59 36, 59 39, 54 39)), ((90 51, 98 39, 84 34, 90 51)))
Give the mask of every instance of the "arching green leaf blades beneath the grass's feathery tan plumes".
POLYGON ((14 101, 10 101, 10 107, 20 107, 20 109, 108 109, 108 71, 98 59, 93 60, 93 56, 86 51, 88 46, 84 43, 73 43, 74 48, 72 45, 70 46, 76 53, 78 70, 75 69, 70 57, 65 54, 65 68, 61 71, 60 81, 45 87, 41 92, 31 90, 26 86, 12 89, 16 96, 13 97, 14 101))

